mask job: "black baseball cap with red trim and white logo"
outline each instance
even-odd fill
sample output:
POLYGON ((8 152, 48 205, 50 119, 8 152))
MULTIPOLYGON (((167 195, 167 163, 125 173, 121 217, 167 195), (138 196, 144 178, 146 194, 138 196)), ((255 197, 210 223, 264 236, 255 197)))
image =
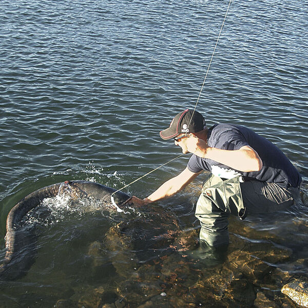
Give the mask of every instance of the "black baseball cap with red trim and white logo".
POLYGON ((186 109, 177 114, 170 126, 159 134, 164 140, 168 140, 180 134, 198 133, 205 129, 205 125, 205 120, 199 112, 186 109))

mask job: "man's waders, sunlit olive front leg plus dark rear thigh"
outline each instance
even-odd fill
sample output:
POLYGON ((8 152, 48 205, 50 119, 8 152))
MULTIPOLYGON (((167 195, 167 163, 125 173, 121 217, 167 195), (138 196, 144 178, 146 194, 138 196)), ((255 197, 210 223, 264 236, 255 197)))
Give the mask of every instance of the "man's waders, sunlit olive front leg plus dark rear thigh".
POLYGON ((244 219, 247 213, 283 210, 298 197, 299 188, 282 188, 275 183, 255 180, 240 183, 240 175, 222 179, 209 174, 195 213, 201 224, 200 240, 211 246, 228 244, 230 214, 244 219))

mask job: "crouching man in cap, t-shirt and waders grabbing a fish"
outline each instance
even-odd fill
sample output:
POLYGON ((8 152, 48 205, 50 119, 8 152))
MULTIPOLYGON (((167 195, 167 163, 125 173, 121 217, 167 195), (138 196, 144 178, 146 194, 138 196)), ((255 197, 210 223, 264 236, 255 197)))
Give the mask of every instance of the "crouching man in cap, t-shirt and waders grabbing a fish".
POLYGON ((301 176, 270 141, 241 125, 206 128, 203 116, 185 110, 172 120, 161 138, 174 138, 182 152, 192 153, 187 167, 143 200, 146 205, 170 197, 204 170, 210 171, 196 205, 200 240, 210 246, 228 244, 228 216, 283 210, 299 198, 301 176))

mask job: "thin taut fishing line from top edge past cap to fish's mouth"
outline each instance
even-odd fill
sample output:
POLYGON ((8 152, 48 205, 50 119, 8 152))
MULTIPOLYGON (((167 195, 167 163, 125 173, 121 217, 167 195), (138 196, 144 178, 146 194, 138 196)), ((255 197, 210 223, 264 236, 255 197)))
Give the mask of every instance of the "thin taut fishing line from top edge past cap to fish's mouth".
MULTIPOLYGON (((199 93, 197 102, 196 102, 196 104, 195 104, 195 107, 194 107, 194 111, 192 112, 191 118, 190 118, 189 123, 188 123, 188 127, 189 127, 189 125, 190 125, 192 116, 194 116, 194 113, 195 113, 195 111, 196 111, 196 107, 197 107, 197 105, 198 105, 198 102, 199 102, 199 99, 200 99, 200 96, 201 96, 201 93, 202 93, 202 90, 203 90, 203 87, 204 87, 204 84, 205 84, 205 80, 206 80, 206 77, 207 77, 207 74, 208 74, 208 71, 209 71, 209 67, 210 67, 211 62, 212 62, 212 60, 213 60, 214 53, 215 53, 215 50, 216 50, 216 47, 217 47, 217 44, 218 44, 218 41, 219 41, 219 38, 220 38, 220 34, 221 34, 221 31, 222 31, 222 27, 223 27, 223 25, 224 25, 224 23, 225 23, 225 20, 226 20, 226 17, 227 17, 227 14, 228 14, 229 7, 230 7, 231 2, 232 2, 232 0, 229 1, 227 10, 226 10, 226 13, 225 13, 225 16, 224 16, 224 19, 223 19, 223 22, 222 22, 222 25, 221 25, 219 34, 218 34, 218 37, 217 37, 217 40, 216 40, 216 44, 215 44, 213 53, 212 53, 211 58, 210 58, 210 60, 209 60, 209 64, 208 64, 208 67, 207 67, 207 70, 206 70, 206 74, 205 74, 205 77, 204 77, 204 80, 203 80, 203 83, 202 83, 202 86, 201 86, 201 90, 200 90, 200 93, 199 93)), ((186 134, 187 134, 187 133, 186 133, 186 134)), ((183 156, 183 155, 184 155, 184 154, 181 154, 181 155, 178 155, 178 156, 175 157, 175 158, 172 158, 171 160, 165 162, 165 164, 163 164, 163 165, 161 165, 161 166, 159 166, 159 167, 157 167, 157 168, 151 170, 150 172, 148 172, 148 173, 146 173, 146 174, 140 176, 139 178, 133 180, 132 182, 130 182, 129 184, 123 186, 122 188, 120 188, 120 189, 114 191, 114 192, 111 194, 111 196, 110 196, 110 197, 111 197, 111 202, 112 202, 112 204, 113 204, 115 207, 117 207, 118 210, 119 210, 119 207, 118 207, 118 205, 114 202, 114 198, 113 198, 113 195, 114 195, 115 193, 117 193, 118 191, 120 191, 120 190, 122 190, 122 189, 124 189, 124 188, 126 188, 126 187, 128 187, 128 186, 130 186, 131 184, 137 182, 138 180, 142 179, 143 177, 145 177, 145 176, 149 175, 150 173, 152 173, 152 172, 154 172, 154 171, 160 169, 161 167, 163 167, 163 166, 169 164, 169 162, 171 162, 171 161, 173 161, 173 160, 175 160, 175 159, 177 159, 177 158, 179 158, 179 157, 181 157, 181 156, 183 156)), ((121 211, 122 211, 122 210, 121 210, 121 211)))

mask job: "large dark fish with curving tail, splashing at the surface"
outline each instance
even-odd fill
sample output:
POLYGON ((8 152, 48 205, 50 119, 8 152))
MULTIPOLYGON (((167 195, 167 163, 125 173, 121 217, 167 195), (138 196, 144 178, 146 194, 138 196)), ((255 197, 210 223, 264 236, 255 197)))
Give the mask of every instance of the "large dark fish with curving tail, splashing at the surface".
MULTIPOLYGON (((6 255, 0 265, 0 279, 13 280, 25 275, 33 264, 36 250, 35 229, 18 229, 24 216, 45 198, 68 194, 72 198, 93 197, 117 207, 131 196, 113 188, 83 180, 66 181, 38 189, 17 203, 9 212, 6 223, 6 255), (114 202, 112 202, 112 199, 114 202)), ((118 208, 119 209, 119 208, 118 208)))

